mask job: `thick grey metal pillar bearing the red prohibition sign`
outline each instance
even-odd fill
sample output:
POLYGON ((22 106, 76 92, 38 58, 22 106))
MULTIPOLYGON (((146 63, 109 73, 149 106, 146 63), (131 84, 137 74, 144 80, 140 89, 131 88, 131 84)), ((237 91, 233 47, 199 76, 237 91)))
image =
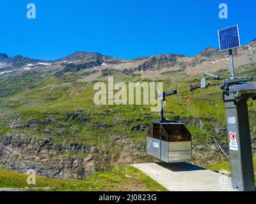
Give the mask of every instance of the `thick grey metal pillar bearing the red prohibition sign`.
POLYGON ((230 100, 230 95, 224 95, 224 101, 232 187, 239 191, 255 191, 247 102, 230 100))

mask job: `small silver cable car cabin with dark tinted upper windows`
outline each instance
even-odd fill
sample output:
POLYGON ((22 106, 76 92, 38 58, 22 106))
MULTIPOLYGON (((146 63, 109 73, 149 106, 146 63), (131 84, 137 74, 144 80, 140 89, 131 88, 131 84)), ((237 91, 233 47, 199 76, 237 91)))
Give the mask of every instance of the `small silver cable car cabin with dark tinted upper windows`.
POLYGON ((148 129, 147 154, 166 163, 192 161, 191 133, 179 122, 152 123, 148 129))

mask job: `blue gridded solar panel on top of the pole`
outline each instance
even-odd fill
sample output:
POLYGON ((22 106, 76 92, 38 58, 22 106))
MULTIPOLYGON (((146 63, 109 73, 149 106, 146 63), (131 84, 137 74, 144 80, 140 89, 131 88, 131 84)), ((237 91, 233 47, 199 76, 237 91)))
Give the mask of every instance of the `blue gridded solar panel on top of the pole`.
POLYGON ((218 30, 220 51, 240 47, 238 25, 218 30))

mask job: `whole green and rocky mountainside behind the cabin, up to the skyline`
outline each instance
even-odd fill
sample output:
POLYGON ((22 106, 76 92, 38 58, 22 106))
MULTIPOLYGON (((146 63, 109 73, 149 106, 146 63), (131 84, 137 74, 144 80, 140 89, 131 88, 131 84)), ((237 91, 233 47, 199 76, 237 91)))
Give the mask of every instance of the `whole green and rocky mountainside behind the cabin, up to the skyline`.
MULTIPOLYGON (((236 75, 255 77, 256 42, 234 53, 236 75)), ((228 78, 227 57, 227 53, 215 48, 206 48, 194 57, 168 54, 133 60, 88 52, 76 52, 56 61, 0 54, 0 168, 4 169, 0 177, 8 175, 7 170, 26 173, 34 169, 42 178, 88 178, 77 180, 72 189, 95 190, 95 184, 90 183, 92 189, 88 189, 83 182, 92 182, 97 176, 106 181, 120 172, 124 176, 124 170, 134 177, 138 175, 141 189, 163 190, 147 184, 145 175, 129 167, 132 163, 158 161, 146 154, 145 137, 150 122, 159 119, 159 115, 150 111, 150 105, 95 105, 93 96, 97 91, 93 85, 107 83, 108 77, 125 84, 163 82, 164 91, 177 89, 179 94, 166 101, 165 116, 182 119, 191 131, 193 163, 208 167, 227 162, 221 81, 207 78, 211 84, 208 89, 189 91, 189 85, 200 83, 202 71, 228 78), (108 173, 97 172, 109 172, 109 178, 108 173)), ((248 105, 255 157, 256 106, 248 105)), ((13 178, 16 176, 13 173, 13 178)), ((11 187, 24 187, 17 183, 11 187)), ((8 187, 6 181, 0 184, 8 187)), ((56 184, 46 182, 41 187, 69 188, 62 181, 56 180, 56 184)), ((99 190, 115 189, 104 186, 104 182, 102 185, 99 190)))

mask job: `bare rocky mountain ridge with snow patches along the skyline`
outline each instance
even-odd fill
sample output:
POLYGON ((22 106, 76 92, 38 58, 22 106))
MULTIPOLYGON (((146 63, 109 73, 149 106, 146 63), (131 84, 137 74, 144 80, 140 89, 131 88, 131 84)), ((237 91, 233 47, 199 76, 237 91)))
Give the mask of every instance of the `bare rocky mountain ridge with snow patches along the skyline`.
MULTIPOLYGON (((248 64, 252 61, 256 49, 256 40, 233 50, 234 56, 240 58, 239 66, 248 64), (242 57, 241 57, 242 56, 242 57)), ((42 61, 40 59, 30 59, 22 55, 8 57, 6 54, 0 54, 0 74, 11 73, 13 71, 28 71, 31 69, 47 68, 62 69, 64 72, 80 71, 81 69, 112 68, 118 70, 131 69, 132 71, 161 71, 161 70, 185 70, 188 74, 195 74, 204 67, 217 71, 223 66, 228 57, 228 51, 220 52, 218 48, 206 47, 200 54, 195 56, 186 56, 184 54, 159 54, 136 59, 119 59, 99 52, 77 51, 66 57, 56 59, 55 61, 42 61), (216 66, 216 62, 220 64, 216 66), (202 63, 207 64, 202 64, 202 63), (210 62, 210 64, 209 64, 210 62), (213 64, 215 64, 213 66, 213 64), (202 65, 202 66, 201 66, 202 65), (199 66, 199 67, 198 67, 199 66), (190 69, 195 67, 195 69, 190 69), (198 67, 198 68, 197 68, 198 67)), ((59 70, 59 71, 60 71, 59 70)), ((209 71, 208 70, 208 71, 209 71)))

